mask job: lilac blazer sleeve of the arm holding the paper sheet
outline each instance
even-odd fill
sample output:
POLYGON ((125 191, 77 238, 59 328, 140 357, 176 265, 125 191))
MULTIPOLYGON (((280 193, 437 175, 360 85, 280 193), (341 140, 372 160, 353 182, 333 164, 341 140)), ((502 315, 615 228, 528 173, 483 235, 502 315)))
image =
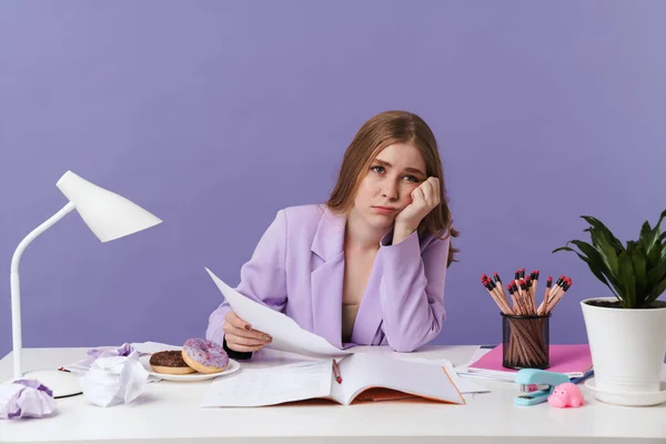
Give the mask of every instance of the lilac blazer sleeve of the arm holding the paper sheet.
MULTIPOLYGON (((285 256, 286 214, 281 210, 262 235, 250 261, 241 268, 241 281, 235 290, 255 302, 282 311, 286 304, 285 256)), ((251 353, 239 353, 226 347, 222 326, 229 311, 231 306, 226 301, 213 311, 209 316, 205 336, 223 345, 231 357, 250 357, 251 353)))

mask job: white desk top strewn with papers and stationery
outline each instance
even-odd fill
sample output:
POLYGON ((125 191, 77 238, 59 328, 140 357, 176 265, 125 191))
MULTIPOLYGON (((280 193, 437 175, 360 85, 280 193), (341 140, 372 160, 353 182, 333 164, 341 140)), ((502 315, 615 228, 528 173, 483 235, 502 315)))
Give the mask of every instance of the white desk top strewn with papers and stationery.
MULTIPOLYGON (((475 349, 432 346, 418 355, 445 357, 458 365, 466 363, 475 349)), ((24 367, 58 367, 81 359, 85 350, 28 349, 24 367)), ((0 381, 9 377, 11 354, 0 361, 0 381)), ((460 406, 383 402, 201 408, 199 403, 209 384, 151 383, 133 403, 109 408, 89 405, 81 395, 57 400, 58 412, 52 417, 0 420, 0 442, 666 443, 666 404, 643 408, 606 405, 584 386, 586 405, 566 410, 547 403, 516 407, 514 385, 486 382, 482 384, 492 393, 467 396, 467 405, 460 406)))

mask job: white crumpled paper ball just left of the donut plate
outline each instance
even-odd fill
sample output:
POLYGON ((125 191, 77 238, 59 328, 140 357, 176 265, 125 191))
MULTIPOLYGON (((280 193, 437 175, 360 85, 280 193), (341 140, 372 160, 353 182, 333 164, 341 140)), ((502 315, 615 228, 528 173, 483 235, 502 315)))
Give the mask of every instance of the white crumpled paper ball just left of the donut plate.
POLYGON ((83 376, 83 396, 101 407, 130 403, 143 393, 149 373, 139 362, 139 353, 128 356, 97 357, 83 376))

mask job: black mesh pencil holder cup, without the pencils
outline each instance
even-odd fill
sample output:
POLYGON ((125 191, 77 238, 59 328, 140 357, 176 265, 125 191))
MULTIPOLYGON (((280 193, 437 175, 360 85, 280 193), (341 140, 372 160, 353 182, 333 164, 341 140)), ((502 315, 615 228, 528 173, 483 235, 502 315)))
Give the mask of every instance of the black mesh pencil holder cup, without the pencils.
POLYGON ((548 369, 551 314, 502 314, 502 365, 507 369, 548 369))

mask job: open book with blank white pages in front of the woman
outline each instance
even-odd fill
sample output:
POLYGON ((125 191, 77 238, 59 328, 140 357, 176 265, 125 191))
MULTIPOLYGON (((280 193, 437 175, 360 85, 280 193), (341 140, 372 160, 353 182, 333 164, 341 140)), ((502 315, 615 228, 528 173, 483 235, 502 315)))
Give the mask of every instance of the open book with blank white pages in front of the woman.
POLYGON ((337 362, 341 383, 335 379, 333 360, 243 367, 235 374, 215 380, 201 406, 251 407, 313 398, 349 405, 355 400, 387 401, 414 396, 465 404, 441 365, 370 353, 352 354, 337 362))

